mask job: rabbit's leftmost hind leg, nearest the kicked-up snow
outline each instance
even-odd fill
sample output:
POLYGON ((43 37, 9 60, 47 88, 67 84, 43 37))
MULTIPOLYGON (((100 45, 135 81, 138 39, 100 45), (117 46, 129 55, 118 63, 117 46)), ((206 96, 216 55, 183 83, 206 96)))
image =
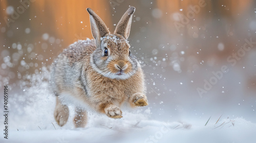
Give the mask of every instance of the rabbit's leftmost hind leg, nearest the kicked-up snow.
POLYGON ((63 105, 61 103, 58 96, 56 96, 56 106, 55 106, 55 110, 54 110, 54 118, 60 127, 65 125, 69 118, 69 108, 67 105, 63 105))

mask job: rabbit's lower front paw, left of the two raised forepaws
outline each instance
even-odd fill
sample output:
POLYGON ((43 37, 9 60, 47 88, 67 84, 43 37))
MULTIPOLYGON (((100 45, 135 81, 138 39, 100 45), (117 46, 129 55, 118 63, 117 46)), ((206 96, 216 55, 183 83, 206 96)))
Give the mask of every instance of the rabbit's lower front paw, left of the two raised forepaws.
POLYGON ((106 115, 108 115, 111 118, 123 117, 122 111, 116 105, 109 105, 109 107, 106 107, 104 110, 106 115))

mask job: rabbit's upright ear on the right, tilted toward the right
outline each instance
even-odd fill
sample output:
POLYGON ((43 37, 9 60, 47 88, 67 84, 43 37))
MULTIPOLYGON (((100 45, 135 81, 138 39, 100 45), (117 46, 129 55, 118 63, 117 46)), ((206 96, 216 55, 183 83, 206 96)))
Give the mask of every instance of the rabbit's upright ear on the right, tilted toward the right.
POLYGON ((114 34, 120 34, 125 39, 127 39, 129 37, 134 12, 135 12, 135 7, 130 7, 123 14, 122 18, 120 19, 120 21, 118 22, 118 24, 116 26, 116 30, 115 30, 114 34))

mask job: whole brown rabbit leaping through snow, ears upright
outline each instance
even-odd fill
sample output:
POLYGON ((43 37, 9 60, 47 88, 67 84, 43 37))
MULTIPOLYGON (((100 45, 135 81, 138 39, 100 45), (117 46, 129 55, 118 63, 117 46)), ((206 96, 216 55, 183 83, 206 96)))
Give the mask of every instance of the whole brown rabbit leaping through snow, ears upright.
POLYGON ((67 123, 68 105, 74 105, 76 128, 87 124, 88 108, 111 118, 121 118, 121 105, 148 105, 144 74, 130 51, 130 34, 135 7, 129 7, 114 34, 90 8, 92 40, 78 40, 54 60, 50 84, 56 96, 54 118, 59 126, 67 123))

